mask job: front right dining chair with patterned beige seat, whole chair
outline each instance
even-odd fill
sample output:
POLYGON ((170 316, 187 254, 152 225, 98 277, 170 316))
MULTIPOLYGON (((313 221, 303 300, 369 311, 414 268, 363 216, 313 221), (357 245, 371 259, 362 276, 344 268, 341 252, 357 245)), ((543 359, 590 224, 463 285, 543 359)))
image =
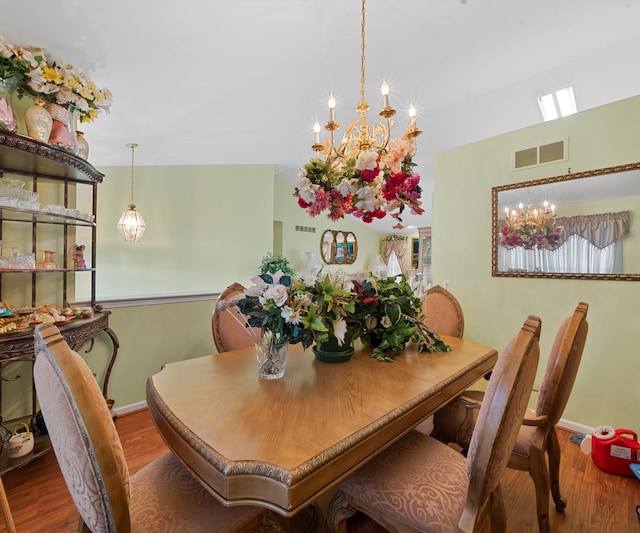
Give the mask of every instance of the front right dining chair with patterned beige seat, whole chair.
POLYGON ((344 480, 327 527, 346 532, 364 514, 393 532, 506 531, 500 480, 538 366, 541 322, 529 316, 494 368, 468 457, 411 431, 344 480), (359 515, 359 516, 356 516, 359 515))

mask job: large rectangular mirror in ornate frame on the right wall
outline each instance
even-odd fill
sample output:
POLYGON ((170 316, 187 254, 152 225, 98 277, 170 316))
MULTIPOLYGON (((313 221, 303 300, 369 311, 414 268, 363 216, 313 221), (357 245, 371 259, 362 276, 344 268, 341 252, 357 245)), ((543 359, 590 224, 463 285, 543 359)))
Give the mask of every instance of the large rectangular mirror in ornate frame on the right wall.
POLYGON ((492 275, 640 280, 640 163, 492 189, 492 275))

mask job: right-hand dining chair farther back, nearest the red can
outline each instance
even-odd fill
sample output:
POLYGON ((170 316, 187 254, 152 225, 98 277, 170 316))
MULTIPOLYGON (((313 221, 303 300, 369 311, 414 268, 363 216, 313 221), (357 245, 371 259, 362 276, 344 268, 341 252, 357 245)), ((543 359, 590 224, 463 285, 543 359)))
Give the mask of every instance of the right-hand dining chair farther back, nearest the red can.
MULTIPOLYGON (((558 512, 563 512, 567 505, 560 493, 561 454, 555 426, 564 412, 578 374, 589 330, 588 309, 587 303, 578 303, 573 314, 563 320, 558 328, 536 408, 527 410, 507 465, 515 470, 528 471, 533 479, 541 533, 550 530, 549 492, 558 512)), ((432 435, 443 442, 455 442, 464 453, 469 446, 483 396, 482 391, 468 390, 438 411, 434 417, 432 435)))

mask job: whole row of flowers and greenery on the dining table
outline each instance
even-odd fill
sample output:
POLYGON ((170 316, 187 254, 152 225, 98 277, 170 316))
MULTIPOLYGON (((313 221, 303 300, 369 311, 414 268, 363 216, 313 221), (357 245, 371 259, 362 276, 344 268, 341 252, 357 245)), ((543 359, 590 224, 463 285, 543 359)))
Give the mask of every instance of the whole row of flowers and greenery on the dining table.
POLYGON ((451 349, 424 324, 422 301, 404 276, 349 278, 309 270, 292 277, 278 271, 252 283, 244 295, 217 305, 237 307, 247 333, 260 328, 266 344, 302 343, 306 349, 332 343, 347 352, 360 338, 380 361, 393 361, 408 342, 416 342, 419 351, 451 349))

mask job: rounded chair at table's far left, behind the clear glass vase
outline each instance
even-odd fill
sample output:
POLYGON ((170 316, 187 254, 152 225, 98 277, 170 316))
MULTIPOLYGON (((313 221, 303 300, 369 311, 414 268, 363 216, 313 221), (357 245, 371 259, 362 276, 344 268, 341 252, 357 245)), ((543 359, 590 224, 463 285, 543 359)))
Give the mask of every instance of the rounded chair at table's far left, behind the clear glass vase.
MULTIPOLYGON (((244 290, 239 283, 233 283, 222 291, 218 302, 240 296, 244 290)), ((211 315, 211 328, 218 353, 248 348, 254 345, 256 338, 260 337, 260 330, 249 328, 244 315, 235 306, 220 309, 216 303, 211 315)))

